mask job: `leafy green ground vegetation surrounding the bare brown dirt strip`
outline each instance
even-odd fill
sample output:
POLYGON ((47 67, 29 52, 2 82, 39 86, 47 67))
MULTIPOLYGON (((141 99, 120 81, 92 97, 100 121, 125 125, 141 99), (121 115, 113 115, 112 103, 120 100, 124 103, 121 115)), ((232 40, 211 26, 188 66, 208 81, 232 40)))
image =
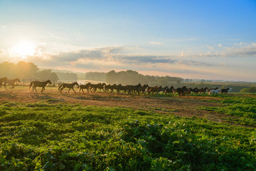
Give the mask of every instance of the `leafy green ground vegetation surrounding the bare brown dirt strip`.
MULTIPOLYGON (((239 110, 255 113, 254 102, 227 96, 219 103, 228 110, 247 103, 239 110)), ((0 170, 256 169, 252 128, 169 112, 0 103, 0 170)))

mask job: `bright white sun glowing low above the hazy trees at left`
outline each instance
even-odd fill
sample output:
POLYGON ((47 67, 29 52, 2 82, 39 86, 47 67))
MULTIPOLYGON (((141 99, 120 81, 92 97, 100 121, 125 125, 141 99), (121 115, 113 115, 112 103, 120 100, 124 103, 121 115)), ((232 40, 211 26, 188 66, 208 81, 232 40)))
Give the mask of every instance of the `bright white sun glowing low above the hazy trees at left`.
POLYGON ((31 41, 20 41, 13 48, 11 48, 12 56, 19 58, 27 58, 27 56, 33 56, 36 53, 36 48, 31 41))

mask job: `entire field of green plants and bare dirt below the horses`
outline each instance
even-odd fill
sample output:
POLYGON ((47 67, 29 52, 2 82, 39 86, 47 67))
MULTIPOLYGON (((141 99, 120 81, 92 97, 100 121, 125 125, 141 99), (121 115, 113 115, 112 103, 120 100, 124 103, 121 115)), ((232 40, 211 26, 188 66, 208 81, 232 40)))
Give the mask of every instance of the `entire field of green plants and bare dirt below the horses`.
POLYGON ((1 90, 0 170, 256 170, 255 127, 255 93, 1 90))

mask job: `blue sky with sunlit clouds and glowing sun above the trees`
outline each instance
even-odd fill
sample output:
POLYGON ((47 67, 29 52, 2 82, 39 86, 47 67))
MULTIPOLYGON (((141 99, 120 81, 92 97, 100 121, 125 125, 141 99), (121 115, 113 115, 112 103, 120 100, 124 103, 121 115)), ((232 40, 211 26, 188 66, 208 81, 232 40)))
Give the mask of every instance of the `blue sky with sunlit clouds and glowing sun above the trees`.
POLYGON ((0 62, 256 82, 256 1, 0 0, 0 62))

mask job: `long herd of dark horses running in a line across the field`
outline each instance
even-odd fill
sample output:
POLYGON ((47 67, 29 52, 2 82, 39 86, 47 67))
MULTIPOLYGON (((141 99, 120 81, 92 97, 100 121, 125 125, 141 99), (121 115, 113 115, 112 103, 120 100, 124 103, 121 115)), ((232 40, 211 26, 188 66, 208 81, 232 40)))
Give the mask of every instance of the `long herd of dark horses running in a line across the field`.
MULTIPOLYGON (((15 83, 18 82, 20 83, 18 78, 15 78, 13 80, 9 80, 8 78, 4 77, 4 78, 0 78, 0 88, 1 86, 4 85, 4 88, 6 88, 6 84, 11 85, 11 88, 15 87, 15 83)), ((50 80, 48 81, 32 81, 30 83, 29 89, 32 87, 32 91, 36 90, 37 87, 41 87, 42 90, 41 92, 43 92, 44 90, 46 90, 46 85, 47 84, 52 84, 50 82, 50 80)), ((174 93, 178 93, 178 96, 186 96, 186 95, 190 95, 191 93, 194 94, 204 94, 204 93, 208 93, 208 95, 213 95, 213 94, 218 94, 218 93, 228 93, 232 90, 232 88, 186 88, 186 86, 183 86, 182 88, 174 88, 174 86, 168 87, 165 86, 164 88, 162 86, 154 86, 154 87, 150 87, 146 84, 144 84, 143 86, 139 83, 137 86, 132 86, 132 85, 127 85, 127 86, 122 86, 121 84, 119 85, 107 85, 105 83, 97 83, 97 84, 92 84, 92 83, 86 83, 85 85, 79 85, 78 82, 74 82, 74 83, 63 83, 59 86, 58 90, 60 93, 62 93, 64 88, 69 88, 68 93, 70 92, 70 90, 72 89, 74 92, 74 86, 78 86, 78 88, 80 88, 79 92, 85 93, 84 90, 87 90, 87 93, 95 93, 96 90, 103 90, 104 92, 111 92, 113 93, 114 90, 116 90, 117 93, 128 93, 128 94, 137 94, 139 95, 140 93, 144 94, 166 94, 166 95, 174 95, 174 93)), ((7 88, 6 88, 7 90, 7 88)), ((36 90, 37 92, 37 90, 36 90)), ((76 92, 75 92, 76 93, 76 92)))

